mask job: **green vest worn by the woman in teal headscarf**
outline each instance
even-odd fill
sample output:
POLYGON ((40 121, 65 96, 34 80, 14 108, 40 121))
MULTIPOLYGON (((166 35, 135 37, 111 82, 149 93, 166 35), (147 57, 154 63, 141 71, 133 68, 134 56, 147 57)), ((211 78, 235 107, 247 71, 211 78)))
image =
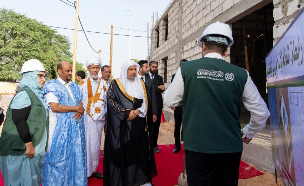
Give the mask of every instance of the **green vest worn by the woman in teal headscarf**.
MULTIPOLYGON (((31 89, 25 87, 22 88, 19 92, 21 91, 26 91, 32 102, 29 118, 26 120, 26 122, 29 125, 29 132, 32 137, 33 145, 36 147, 41 142, 44 132, 48 132, 49 118, 46 118, 47 111, 44 108, 44 105, 31 89), (45 131, 45 129, 47 129, 47 131, 45 131)), ((0 137, 0 155, 15 156, 20 155, 25 151, 25 145, 19 136, 17 127, 12 119, 12 109, 10 108, 12 102, 13 99, 6 111, 6 118, 0 137)), ((45 147, 45 150, 47 150, 47 145, 45 147)))

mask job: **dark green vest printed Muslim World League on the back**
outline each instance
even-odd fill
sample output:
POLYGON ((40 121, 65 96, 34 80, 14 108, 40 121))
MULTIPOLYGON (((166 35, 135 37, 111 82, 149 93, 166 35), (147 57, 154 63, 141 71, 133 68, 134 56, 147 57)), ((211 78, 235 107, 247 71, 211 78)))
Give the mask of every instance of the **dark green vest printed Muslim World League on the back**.
POLYGON ((184 149, 209 154, 243 150, 241 97, 245 69, 222 59, 201 58, 181 63, 184 80, 184 149))

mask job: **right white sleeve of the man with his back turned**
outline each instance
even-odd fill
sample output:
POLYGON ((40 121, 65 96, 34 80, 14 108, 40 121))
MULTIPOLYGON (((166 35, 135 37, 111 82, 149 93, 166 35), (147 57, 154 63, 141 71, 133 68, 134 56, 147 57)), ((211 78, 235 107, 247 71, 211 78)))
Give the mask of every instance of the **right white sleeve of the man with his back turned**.
POLYGON ((251 112, 250 121, 248 125, 243 128, 243 133, 247 138, 251 139, 265 127, 270 114, 266 103, 251 80, 249 73, 242 95, 242 101, 245 108, 251 112))

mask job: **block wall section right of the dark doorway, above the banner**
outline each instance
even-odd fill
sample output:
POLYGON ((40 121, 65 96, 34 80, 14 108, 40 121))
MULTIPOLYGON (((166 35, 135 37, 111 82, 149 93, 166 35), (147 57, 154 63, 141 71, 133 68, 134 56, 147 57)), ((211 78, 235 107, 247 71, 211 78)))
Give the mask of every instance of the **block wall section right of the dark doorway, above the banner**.
POLYGON ((287 27, 304 6, 304 0, 274 0, 273 1, 273 46, 280 39, 287 27))

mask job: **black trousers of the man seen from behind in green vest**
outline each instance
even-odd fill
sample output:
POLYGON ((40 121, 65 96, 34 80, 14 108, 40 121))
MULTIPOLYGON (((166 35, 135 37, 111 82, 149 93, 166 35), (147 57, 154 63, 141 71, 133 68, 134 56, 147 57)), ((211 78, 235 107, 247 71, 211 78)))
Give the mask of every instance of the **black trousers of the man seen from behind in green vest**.
POLYGON ((242 152, 185 153, 188 186, 237 186, 242 152))

